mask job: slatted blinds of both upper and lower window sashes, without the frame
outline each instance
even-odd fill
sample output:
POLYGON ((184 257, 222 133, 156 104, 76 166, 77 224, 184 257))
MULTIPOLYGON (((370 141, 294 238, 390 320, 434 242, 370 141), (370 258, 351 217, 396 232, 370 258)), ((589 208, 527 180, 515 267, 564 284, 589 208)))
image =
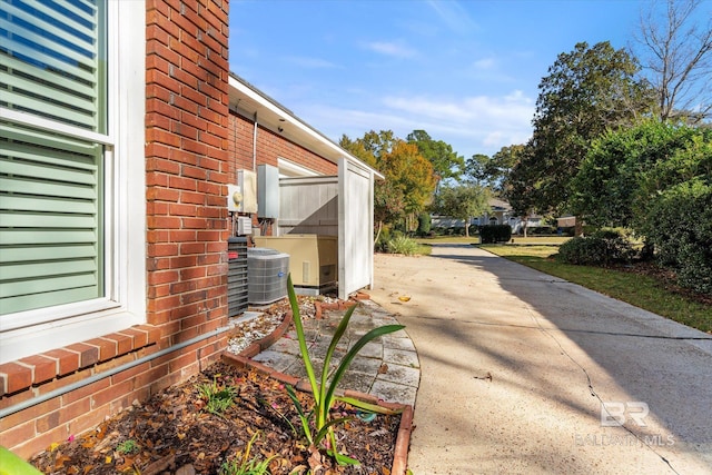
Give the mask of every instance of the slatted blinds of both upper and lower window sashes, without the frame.
MULTIPOLYGON (((107 133, 106 1, 0 0, 0 107, 107 133)), ((0 121, 0 315, 105 296, 103 147, 0 121)))

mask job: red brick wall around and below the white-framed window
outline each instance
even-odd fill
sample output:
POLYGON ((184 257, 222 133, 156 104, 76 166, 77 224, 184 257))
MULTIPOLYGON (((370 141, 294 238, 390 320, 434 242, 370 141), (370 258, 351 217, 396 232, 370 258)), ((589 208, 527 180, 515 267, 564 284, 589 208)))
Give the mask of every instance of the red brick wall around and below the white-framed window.
POLYGON ((186 379, 225 348, 225 336, 211 336, 102 377, 227 323, 227 40, 228 0, 147 1, 147 325, 0 366, 0 408, 99 376, 0 420, 0 444, 22 457, 186 379))

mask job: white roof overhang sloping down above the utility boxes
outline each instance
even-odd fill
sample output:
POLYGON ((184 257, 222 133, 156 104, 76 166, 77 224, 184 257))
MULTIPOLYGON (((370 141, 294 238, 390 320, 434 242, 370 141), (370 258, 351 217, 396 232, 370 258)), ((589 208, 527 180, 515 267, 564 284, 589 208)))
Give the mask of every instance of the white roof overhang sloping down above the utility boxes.
POLYGON ((231 111, 256 120, 260 127, 280 135, 333 164, 338 165, 339 158, 344 157, 360 167, 373 170, 376 178, 385 178, 378 170, 354 157, 234 72, 230 72, 229 77, 229 107, 231 111))

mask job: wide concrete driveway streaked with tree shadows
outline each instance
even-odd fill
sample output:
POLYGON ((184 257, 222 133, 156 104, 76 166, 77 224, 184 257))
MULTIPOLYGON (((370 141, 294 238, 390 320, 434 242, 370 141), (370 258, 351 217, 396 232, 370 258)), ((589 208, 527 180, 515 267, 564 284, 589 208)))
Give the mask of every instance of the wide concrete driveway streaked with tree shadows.
POLYGON ((375 265, 419 357, 415 474, 712 474, 712 336, 468 245, 375 265))

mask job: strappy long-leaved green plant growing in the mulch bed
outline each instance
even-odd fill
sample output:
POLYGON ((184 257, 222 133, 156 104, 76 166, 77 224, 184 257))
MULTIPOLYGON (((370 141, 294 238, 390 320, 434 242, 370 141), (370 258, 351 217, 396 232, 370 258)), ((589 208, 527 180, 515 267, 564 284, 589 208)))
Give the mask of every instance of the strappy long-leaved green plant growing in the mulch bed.
POLYGON ((307 377, 309 380, 309 385, 312 387, 312 394, 314 396, 314 409, 309 413, 306 413, 305 408, 299 403, 295 389, 291 386, 287 386, 287 393, 291 398, 291 402, 299 414, 299 419, 301 422, 301 428, 304 429, 304 434, 310 446, 316 448, 324 448, 323 443, 328 436, 328 445, 326 447, 326 452, 332 455, 339 465, 358 465, 359 462, 355 461, 344 454, 338 452, 338 447, 336 444, 336 436, 334 435, 334 426, 346 420, 352 419, 353 417, 337 417, 333 418, 330 410, 336 400, 340 400, 352 406, 358 407, 364 410, 368 410, 372 413, 380 413, 380 414, 397 414, 397 410, 387 409, 375 404, 368 404, 363 400, 354 399, 350 397, 342 397, 336 396, 336 387, 338 386, 342 377, 348 369, 352 360, 358 352, 370 340, 374 338, 378 338, 383 335, 397 331, 402 328, 405 328, 403 325, 385 325, 378 328, 374 328, 368 331, 366 335, 362 336, 358 342, 348 350, 346 356, 342 359, 340 364, 332 375, 330 382, 328 380, 329 376, 329 365, 332 363, 332 357, 334 355, 334 350, 338 345, 339 340, 346 333, 346 328, 348 326, 348 321, 350 320, 352 315, 354 314, 355 306, 350 307, 346 310, 344 318, 339 321, 334 336, 329 343, 329 347, 324 356, 324 365, 322 367, 322 378, 320 383, 317 383, 316 373, 314 372, 314 365, 312 364, 312 358, 309 357, 309 350, 307 347, 306 337, 304 334, 304 326, 301 325, 301 316, 299 314, 299 301, 297 300, 297 296, 294 291, 294 285, 291 284, 291 276, 287 277, 287 293, 289 295, 289 304, 291 306, 291 316, 294 319, 294 326, 297 331, 297 338, 299 340, 299 353, 301 355, 301 360, 304 363, 305 370, 307 373, 307 377), (312 420, 314 422, 314 427, 312 427, 312 420))

